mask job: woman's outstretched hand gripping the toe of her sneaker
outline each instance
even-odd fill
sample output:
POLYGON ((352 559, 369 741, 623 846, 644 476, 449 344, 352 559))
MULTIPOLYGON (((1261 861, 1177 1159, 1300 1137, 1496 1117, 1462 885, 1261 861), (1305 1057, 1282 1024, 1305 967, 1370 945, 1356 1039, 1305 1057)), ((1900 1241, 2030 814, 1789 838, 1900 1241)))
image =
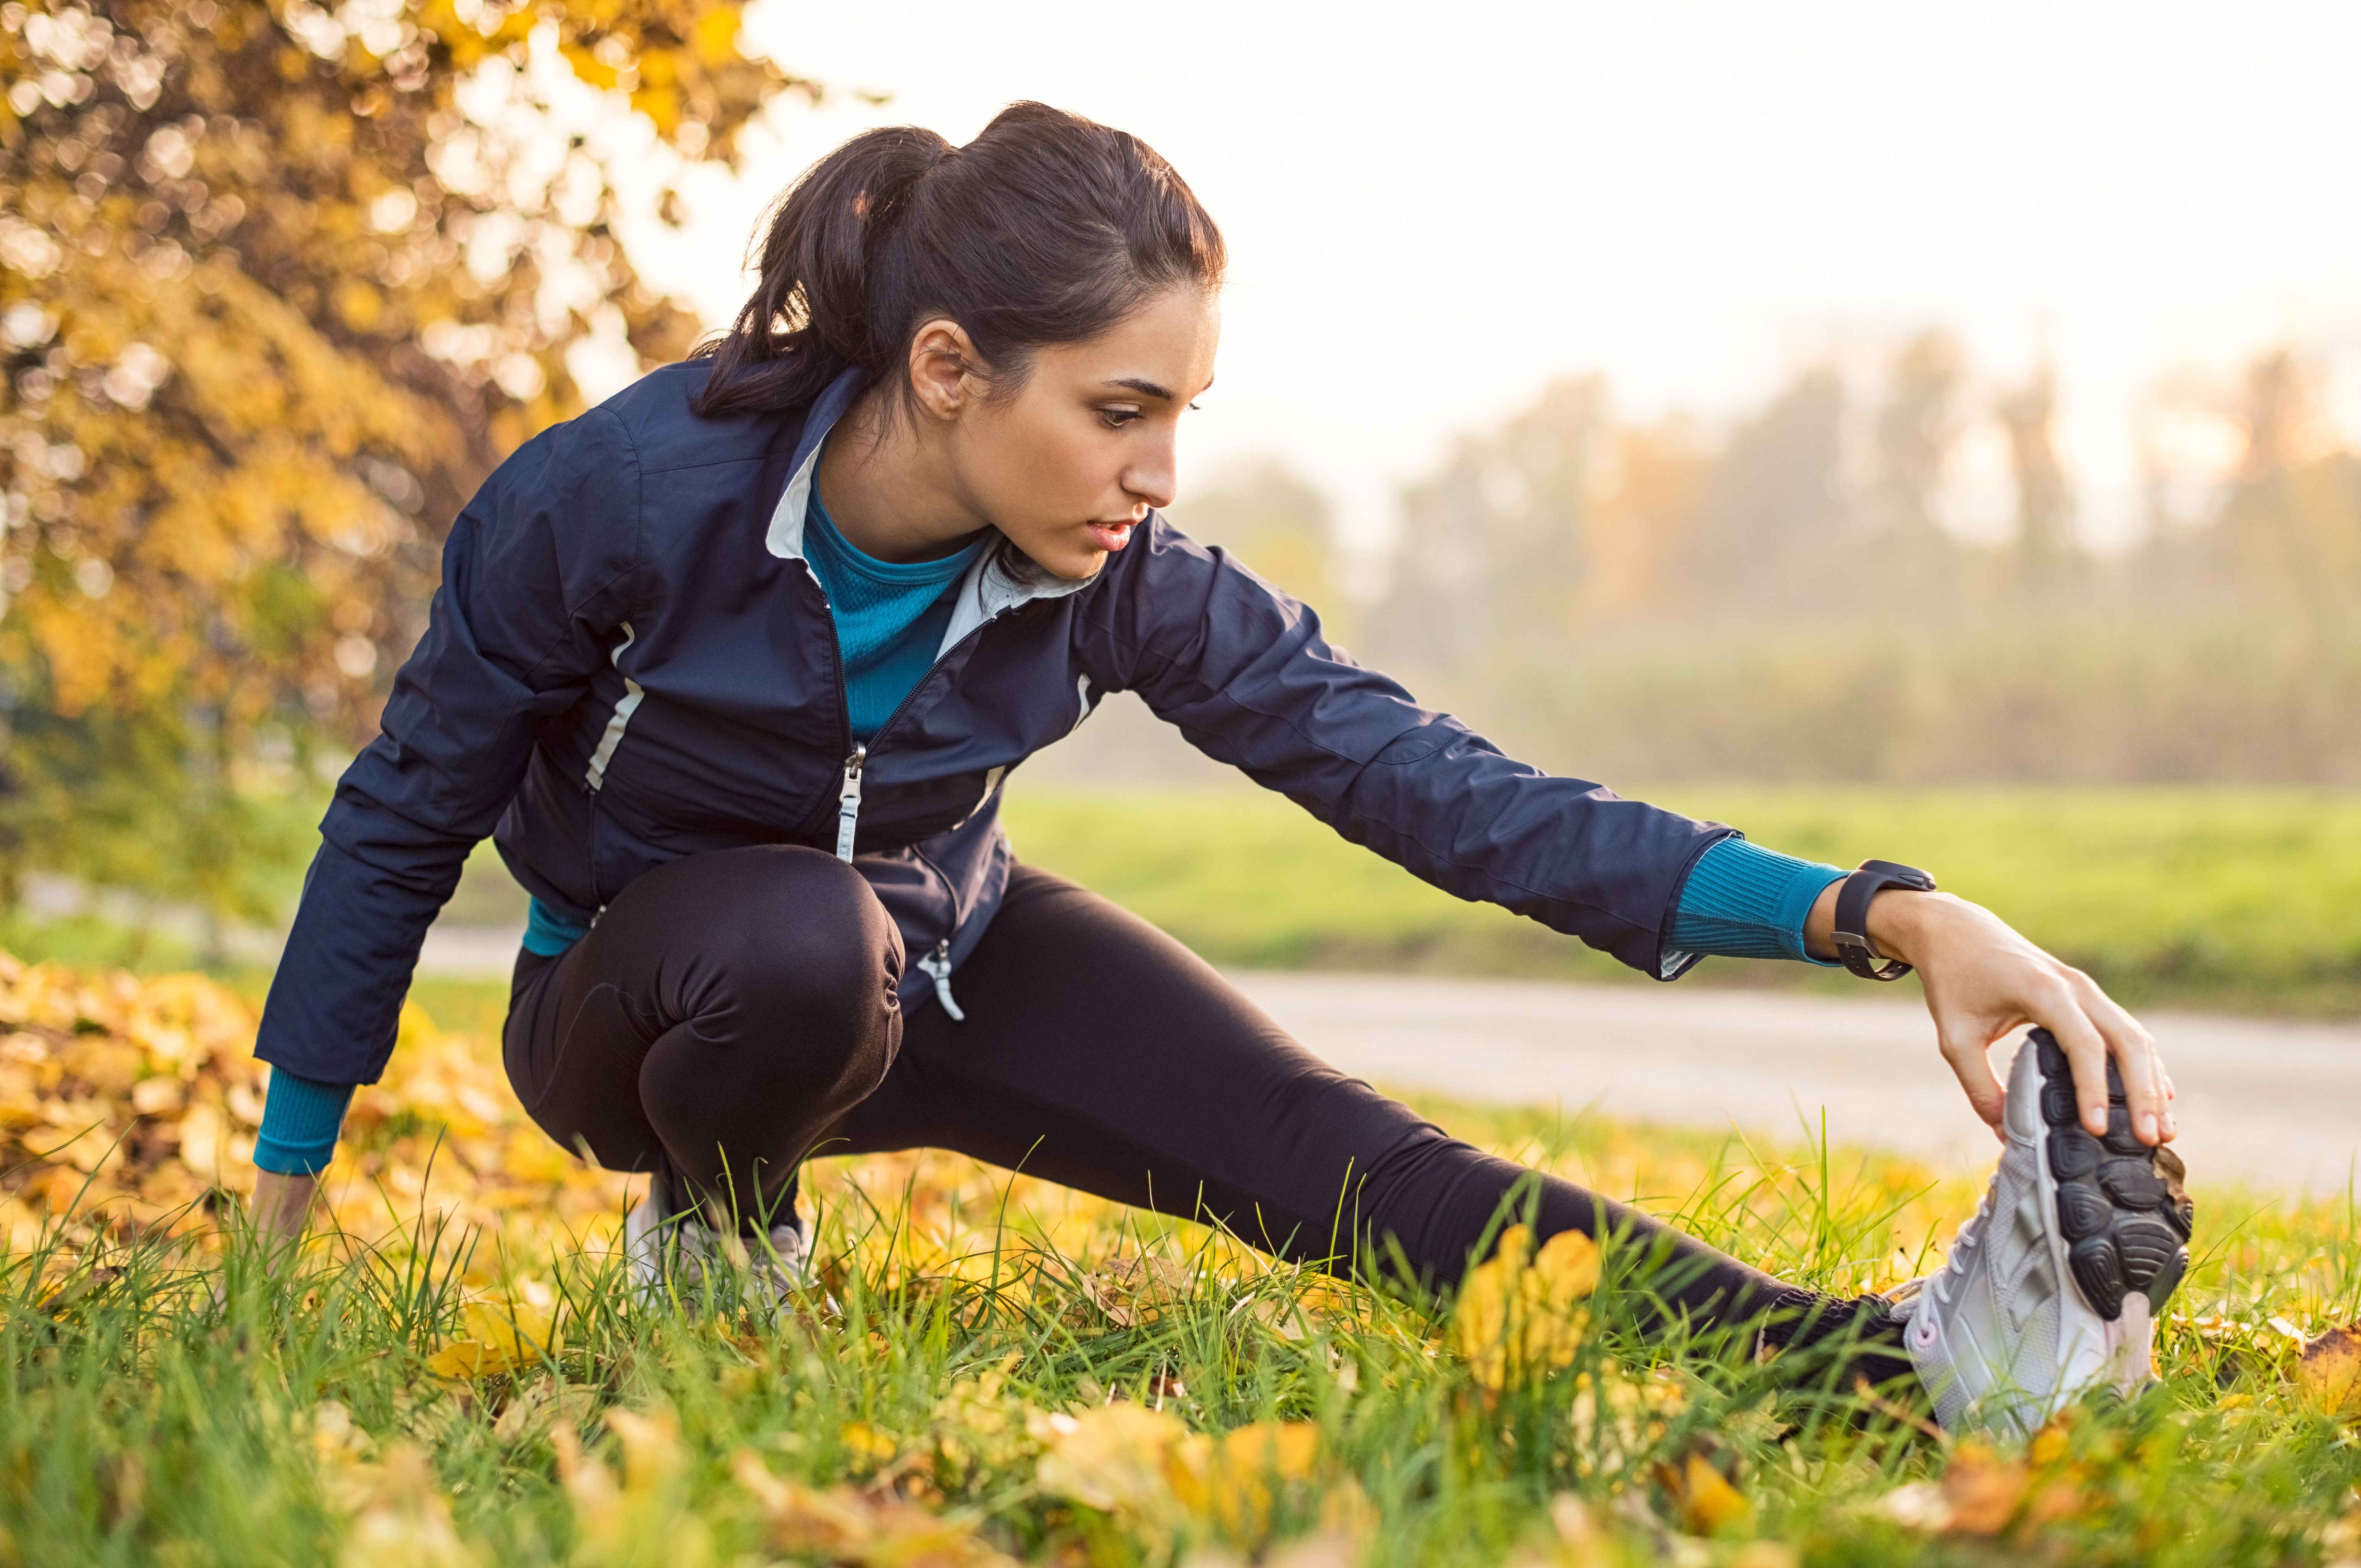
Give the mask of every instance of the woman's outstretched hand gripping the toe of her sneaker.
MULTIPOLYGON (((1830 883, 1804 923, 1813 956, 1837 954, 1837 888, 1830 883)), ((2106 1058, 2123 1072, 2123 1098, 2132 1133, 2141 1143, 2167 1143, 2172 1077, 2156 1053, 2156 1039, 2115 1006, 2099 982, 2059 963, 2016 935, 2000 916, 1950 893, 1886 890, 1870 900, 1870 945, 1919 973, 1927 1011, 1934 1013, 1943 1060, 1960 1074, 1967 1103, 1995 1133, 2007 1089, 1986 1056, 2009 1030, 2040 1025, 2056 1037, 2073 1065, 2082 1126, 2106 1133, 2106 1058)))

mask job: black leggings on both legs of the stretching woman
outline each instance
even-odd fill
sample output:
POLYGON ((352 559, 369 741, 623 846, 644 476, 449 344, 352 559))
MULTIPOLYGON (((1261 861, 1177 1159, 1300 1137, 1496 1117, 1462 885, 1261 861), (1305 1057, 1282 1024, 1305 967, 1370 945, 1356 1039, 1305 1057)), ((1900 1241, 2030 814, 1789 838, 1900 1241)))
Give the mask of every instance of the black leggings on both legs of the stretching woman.
MULTIPOLYGON (((966 1013, 904 1018, 902 937, 807 848, 640 876, 557 959, 522 956, 508 1074, 560 1143, 756 1219, 810 1152, 947 1148, 1265 1252, 1454 1285, 1502 1223, 1653 1249, 1657 1311, 1849 1318, 1596 1193, 1452 1138, 1287 1037, 1147 921, 1015 867, 954 975, 966 1013)), ((1785 1334, 1775 1334, 1785 1339, 1785 1334)), ((1813 1334, 1818 1337, 1818 1334, 1813 1334)))

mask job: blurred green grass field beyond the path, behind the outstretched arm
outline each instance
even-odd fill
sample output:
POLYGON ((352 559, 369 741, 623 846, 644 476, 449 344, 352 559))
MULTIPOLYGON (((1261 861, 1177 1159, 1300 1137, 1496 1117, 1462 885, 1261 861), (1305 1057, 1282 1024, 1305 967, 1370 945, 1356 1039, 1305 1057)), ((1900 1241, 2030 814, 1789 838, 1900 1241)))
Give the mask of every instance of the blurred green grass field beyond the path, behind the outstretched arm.
MULTIPOLYGON (((2264 789, 1631 791, 1832 864, 1922 864, 2130 1004, 2361 1015, 2361 793, 2264 789)), ((1216 963, 1639 980, 1535 921, 1466 904, 1251 789, 1011 786, 1025 860, 1216 963)), ((1709 959, 1688 985, 1846 975, 1709 959)))

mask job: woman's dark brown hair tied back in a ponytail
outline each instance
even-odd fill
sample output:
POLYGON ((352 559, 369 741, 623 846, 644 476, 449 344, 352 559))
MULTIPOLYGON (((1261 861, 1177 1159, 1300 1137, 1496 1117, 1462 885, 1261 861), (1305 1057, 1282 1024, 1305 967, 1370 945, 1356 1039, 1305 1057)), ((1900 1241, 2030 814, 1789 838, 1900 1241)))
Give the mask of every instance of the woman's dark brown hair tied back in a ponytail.
POLYGON ((701 345, 696 413, 763 413, 859 366, 904 380, 909 340, 949 316, 1020 383, 1029 349, 1081 342, 1173 286, 1221 283, 1221 229, 1138 137, 1048 104, 1011 104, 951 146, 900 125, 852 137, 786 189, 763 281, 701 345))

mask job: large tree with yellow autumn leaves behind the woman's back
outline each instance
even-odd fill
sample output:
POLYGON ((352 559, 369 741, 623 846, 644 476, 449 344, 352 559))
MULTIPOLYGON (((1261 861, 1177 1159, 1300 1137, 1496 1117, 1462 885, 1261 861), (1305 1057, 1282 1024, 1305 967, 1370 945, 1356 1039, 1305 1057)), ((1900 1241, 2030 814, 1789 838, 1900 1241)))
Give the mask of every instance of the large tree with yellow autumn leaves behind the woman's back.
POLYGON ((732 0, 0 5, 0 895, 267 914, 248 784, 373 727, 569 354, 689 342, 619 163, 779 90, 732 0))

